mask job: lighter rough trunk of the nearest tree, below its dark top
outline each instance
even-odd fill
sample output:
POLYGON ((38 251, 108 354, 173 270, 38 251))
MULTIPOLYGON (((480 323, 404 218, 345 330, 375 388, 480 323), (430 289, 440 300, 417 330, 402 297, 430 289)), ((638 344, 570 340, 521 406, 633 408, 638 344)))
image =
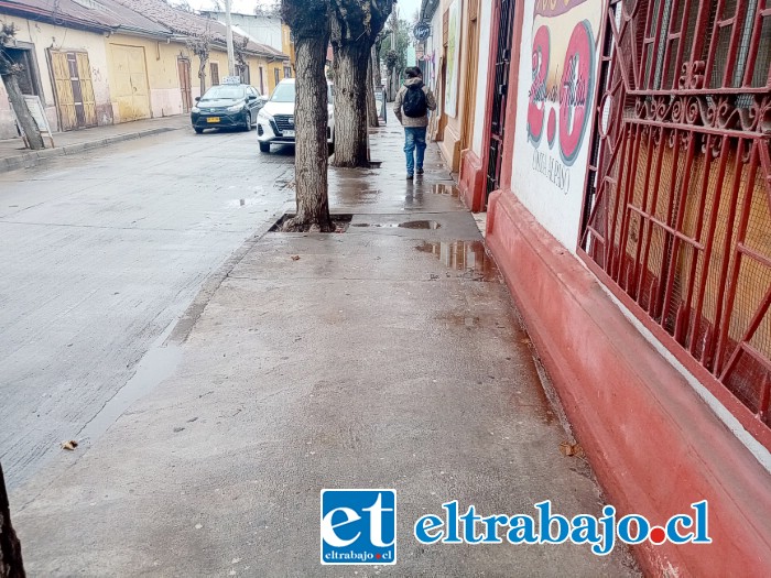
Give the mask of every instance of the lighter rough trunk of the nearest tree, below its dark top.
MULTIPOLYGON (((296 105, 294 111, 295 190, 297 214, 284 231, 333 230, 327 196, 327 79, 324 76, 328 33, 295 41, 296 105)), ((335 111, 337 114, 337 110, 335 111)), ((337 122, 337 121, 336 121, 337 122)))

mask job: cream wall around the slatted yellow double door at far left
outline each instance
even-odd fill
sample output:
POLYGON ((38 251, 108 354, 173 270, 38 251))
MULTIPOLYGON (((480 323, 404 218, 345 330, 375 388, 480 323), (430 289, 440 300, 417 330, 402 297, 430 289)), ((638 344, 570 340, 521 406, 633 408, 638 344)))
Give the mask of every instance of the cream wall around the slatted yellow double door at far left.
MULTIPOLYGON (((41 99, 45 106, 45 112, 51 123, 51 129, 58 130, 58 117, 56 101, 47 61, 47 48, 57 51, 87 52, 91 67, 91 83, 97 106, 97 121, 99 124, 112 123, 112 107, 110 106, 110 91, 107 83, 107 57, 105 53, 105 36, 100 33, 84 32, 65 29, 43 22, 34 22, 23 18, 0 14, 0 19, 17 28, 17 41, 34 44, 34 54, 37 61, 37 72, 43 87, 41 99)), ((17 135, 15 127, 11 120, 12 114, 8 103, 8 95, 0 83, 0 139, 17 135)))

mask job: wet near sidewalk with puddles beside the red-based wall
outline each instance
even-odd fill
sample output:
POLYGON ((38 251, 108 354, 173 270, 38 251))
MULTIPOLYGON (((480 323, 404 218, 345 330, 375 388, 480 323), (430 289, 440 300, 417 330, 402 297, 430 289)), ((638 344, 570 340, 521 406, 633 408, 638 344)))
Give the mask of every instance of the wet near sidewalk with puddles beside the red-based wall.
POLYGON ((600 497, 547 402, 508 290, 438 151, 404 181, 332 171, 345 233, 262 226, 202 291, 82 446, 12 497, 31 575, 628 576, 586 545, 422 546, 426 513, 600 497), (133 401, 135 400, 135 401, 133 401), (398 564, 319 564, 319 491, 395 488, 398 564))

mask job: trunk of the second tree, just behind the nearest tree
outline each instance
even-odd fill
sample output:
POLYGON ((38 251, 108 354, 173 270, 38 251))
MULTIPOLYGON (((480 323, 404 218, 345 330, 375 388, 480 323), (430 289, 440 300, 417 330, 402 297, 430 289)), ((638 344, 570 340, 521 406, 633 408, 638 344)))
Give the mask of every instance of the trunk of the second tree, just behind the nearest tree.
POLYGON ((367 157, 367 63, 371 44, 336 46, 335 166, 368 167, 367 157))

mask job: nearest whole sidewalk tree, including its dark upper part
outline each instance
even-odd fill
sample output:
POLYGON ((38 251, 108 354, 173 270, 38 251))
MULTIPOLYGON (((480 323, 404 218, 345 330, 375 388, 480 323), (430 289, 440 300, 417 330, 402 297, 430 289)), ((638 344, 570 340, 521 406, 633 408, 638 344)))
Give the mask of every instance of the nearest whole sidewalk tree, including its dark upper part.
POLYGON ((284 231, 333 230, 327 182, 327 79, 324 76, 329 0, 282 0, 281 12, 294 34, 296 101, 294 109, 296 215, 284 231), (321 25, 319 25, 321 24, 321 25))

